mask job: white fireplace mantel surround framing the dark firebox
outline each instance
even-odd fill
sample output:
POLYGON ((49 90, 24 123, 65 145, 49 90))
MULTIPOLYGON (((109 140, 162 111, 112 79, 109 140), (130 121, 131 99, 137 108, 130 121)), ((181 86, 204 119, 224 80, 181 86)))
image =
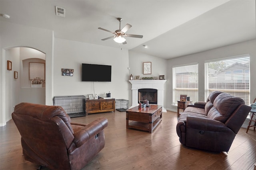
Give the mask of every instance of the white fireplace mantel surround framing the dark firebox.
POLYGON ((152 88, 157 90, 157 104, 162 106, 162 111, 166 112, 164 108, 164 83, 166 80, 129 80, 132 84, 132 106, 138 106, 138 89, 152 88))

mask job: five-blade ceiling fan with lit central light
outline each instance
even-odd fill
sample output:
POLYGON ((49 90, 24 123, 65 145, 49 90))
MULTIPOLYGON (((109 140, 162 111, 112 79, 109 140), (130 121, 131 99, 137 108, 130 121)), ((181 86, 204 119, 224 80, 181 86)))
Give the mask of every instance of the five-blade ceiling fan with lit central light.
POLYGON ((114 41, 116 41, 117 43, 126 44, 126 39, 124 37, 134 37, 134 38, 142 38, 143 37, 143 35, 126 34, 126 31, 128 31, 128 29, 130 29, 130 27, 132 27, 132 25, 127 23, 123 27, 123 29, 121 29, 121 21, 123 19, 122 18, 117 18, 117 20, 119 21, 119 29, 117 29, 115 32, 109 31, 109 30, 101 28, 101 27, 98 27, 98 29, 101 29, 103 31, 108 31, 108 32, 114 34, 111 37, 107 37, 107 38, 102 39, 102 41, 105 41, 105 40, 110 39, 110 38, 114 38, 114 41))

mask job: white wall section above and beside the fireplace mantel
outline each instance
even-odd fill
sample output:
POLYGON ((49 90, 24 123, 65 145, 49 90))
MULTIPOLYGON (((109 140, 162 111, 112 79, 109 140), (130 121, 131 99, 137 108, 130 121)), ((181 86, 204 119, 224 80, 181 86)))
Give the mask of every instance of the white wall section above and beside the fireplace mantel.
MULTIPOLYGON (((158 77, 160 75, 164 75, 165 79, 167 76, 167 62, 165 59, 161 59, 158 57, 150 56, 143 53, 138 53, 135 51, 129 51, 129 75, 140 76, 142 77, 158 77), (143 74, 143 62, 151 62, 151 73, 152 74, 143 74)), ((129 79, 129 76, 127 76, 129 79)), ((146 81, 146 80, 145 80, 146 81)), ((166 82, 170 81, 170 79, 166 80, 166 82)), ((129 100, 130 106, 132 105, 132 85, 129 84, 129 100)), ((164 107, 166 106, 166 83, 164 84, 164 107)))

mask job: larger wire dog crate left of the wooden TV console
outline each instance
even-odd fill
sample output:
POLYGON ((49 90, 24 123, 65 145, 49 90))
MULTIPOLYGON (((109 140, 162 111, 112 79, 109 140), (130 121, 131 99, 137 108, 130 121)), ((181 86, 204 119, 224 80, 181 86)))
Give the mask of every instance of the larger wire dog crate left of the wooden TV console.
POLYGON ((54 96, 53 105, 61 106, 70 117, 85 116, 85 99, 83 95, 54 96))

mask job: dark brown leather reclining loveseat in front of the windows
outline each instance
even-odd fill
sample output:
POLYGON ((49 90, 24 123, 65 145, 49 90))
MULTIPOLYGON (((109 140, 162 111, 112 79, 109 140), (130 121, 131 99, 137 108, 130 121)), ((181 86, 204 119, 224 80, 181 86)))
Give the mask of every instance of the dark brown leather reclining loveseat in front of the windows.
POLYGON ((214 152, 228 152, 251 107, 244 100, 214 91, 181 113, 176 131, 180 143, 214 152))

